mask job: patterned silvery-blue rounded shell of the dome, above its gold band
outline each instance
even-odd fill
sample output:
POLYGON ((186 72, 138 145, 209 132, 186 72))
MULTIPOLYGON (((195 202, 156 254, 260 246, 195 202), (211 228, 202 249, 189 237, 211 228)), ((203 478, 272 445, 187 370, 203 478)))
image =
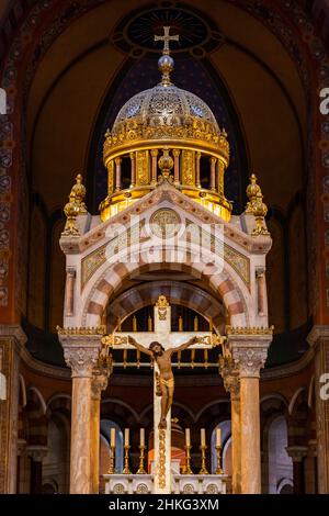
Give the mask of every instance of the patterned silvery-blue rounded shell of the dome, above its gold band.
POLYGON ((120 133, 128 121, 136 121, 137 125, 148 127, 173 127, 191 125, 195 119, 205 122, 211 132, 219 133, 216 119, 203 100, 174 85, 160 83, 135 94, 123 105, 112 133, 120 133))

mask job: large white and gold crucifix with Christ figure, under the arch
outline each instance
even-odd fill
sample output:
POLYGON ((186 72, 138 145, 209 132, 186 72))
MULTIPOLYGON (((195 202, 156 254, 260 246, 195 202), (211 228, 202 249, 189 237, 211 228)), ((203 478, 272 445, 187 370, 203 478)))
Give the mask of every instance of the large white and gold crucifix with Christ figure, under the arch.
MULTIPOLYGON (((138 351, 147 352, 155 358, 154 360, 154 433, 155 433, 155 478, 154 492, 171 493, 171 400, 173 394, 173 379, 171 380, 171 356, 183 349, 207 349, 222 343, 220 337, 213 335, 212 332, 171 332, 171 307, 164 298, 160 295, 154 307, 154 332, 134 332, 133 335, 126 332, 114 333, 105 337, 114 349, 137 348, 138 351), (163 378, 163 369, 159 360, 152 354, 155 343, 163 348, 163 355, 167 354, 164 364, 169 378, 163 378), (157 363, 158 362, 158 363, 157 363), (161 371, 162 370, 162 371, 161 371), (161 382, 161 375, 164 382, 161 382), (167 383, 167 385, 166 385, 167 383), (160 393, 161 389, 161 393, 160 393), (163 393, 167 394, 164 406, 163 393), (169 399, 169 400, 168 400, 169 399), (162 405, 162 406, 161 406, 162 405), (161 415, 166 414, 166 420, 161 415)), ((166 374, 164 374, 166 377, 166 374)))

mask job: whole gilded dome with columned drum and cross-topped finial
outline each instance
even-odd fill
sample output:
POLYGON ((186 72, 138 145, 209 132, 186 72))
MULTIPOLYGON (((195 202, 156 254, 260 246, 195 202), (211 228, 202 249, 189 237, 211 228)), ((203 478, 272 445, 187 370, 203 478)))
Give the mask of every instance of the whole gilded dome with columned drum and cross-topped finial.
POLYGON ((229 160, 227 134, 202 99, 172 85, 168 34, 169 29, 164 27, 164 49, 158 61, 161 82, 132 97, 120 110, 112 131, 105 134, 109 191, 100 205, 102 220, 157 188, 158 158, 164 153, 172 156, 170 180, 175 188, 223 218, 230 217, 231 205, 224 195, 224 172, 229 160), (209 188, 201 186, 204 157, 208 158, 209 188), (131 160, 128 186, 122 183, 125 159, 131 160))

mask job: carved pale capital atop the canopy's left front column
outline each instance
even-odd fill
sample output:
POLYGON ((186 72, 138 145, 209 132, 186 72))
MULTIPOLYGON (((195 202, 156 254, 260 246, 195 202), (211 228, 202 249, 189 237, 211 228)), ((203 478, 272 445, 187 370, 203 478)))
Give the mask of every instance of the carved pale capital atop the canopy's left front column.
POLYGON ((104 328, 59 328, 57 326, 57 332, 65 361, 72 370, 72 378, 92 378, 102 348, 101 339, 105 333, 104 328))

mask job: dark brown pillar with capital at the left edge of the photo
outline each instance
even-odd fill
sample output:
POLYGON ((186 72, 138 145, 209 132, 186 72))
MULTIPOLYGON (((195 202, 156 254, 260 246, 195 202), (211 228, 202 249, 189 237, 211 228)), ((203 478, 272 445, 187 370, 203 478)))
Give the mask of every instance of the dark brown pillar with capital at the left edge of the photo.
POLYGON ((0 325, 0 372, 5 378, 5 399, 0 400, 0 493, 14 494, 18 470, 20 352, 26 336, 20 326, 0 325))

